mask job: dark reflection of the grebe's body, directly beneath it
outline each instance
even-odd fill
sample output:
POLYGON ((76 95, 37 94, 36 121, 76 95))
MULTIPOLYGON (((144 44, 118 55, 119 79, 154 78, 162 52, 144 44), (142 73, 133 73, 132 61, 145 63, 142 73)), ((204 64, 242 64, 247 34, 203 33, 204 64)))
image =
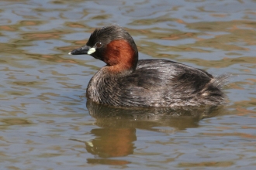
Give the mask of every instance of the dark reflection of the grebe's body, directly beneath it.
POLYGON ((217 107, 110 107, 88 100, 89 114, 102 128, 140 128, 154 131, 153 127, 173 127, 179 130, 196 128, 204 117, 220 112, 217 107))

